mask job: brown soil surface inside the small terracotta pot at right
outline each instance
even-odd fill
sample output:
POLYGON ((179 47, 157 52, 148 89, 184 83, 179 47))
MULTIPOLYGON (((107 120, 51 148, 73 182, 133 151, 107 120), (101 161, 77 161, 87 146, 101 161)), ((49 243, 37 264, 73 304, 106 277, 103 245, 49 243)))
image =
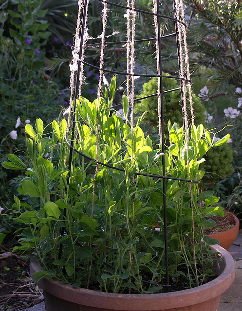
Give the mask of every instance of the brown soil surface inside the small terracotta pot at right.
POLYGON ((236 224, 233 213, 227 210, 224 210, 224 217, 216 215, 211 217, 211 219, 214 220, 217 225, 214 228, 206 228, 204 230, 205 234, 226 231, 231 229, 236 224))

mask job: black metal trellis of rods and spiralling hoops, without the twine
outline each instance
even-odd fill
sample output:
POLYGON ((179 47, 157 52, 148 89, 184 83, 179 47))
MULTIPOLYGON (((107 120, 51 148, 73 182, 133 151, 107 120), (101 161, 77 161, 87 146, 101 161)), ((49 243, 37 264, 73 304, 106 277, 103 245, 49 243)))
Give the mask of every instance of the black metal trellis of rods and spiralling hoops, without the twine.
MULTIPOLYGON (((68 130, 66 132, 66 135, 65 135, 66 142, 70 146, 69 173, 71 172, 73 151, 78 153, 80 156, 85 157, 89 161, 95 162, 96 165, 100 164, 100 165, 112 168, 114 170, 117 170, 117 171, 125 172, 124 169, 120 169, 120 168, 111 166, 109 164, 102 163, 102 162, 100 162, 100 161, 98 161, 98 160, 96 160, 96 159, 94 159, 92 157, 89 157, 89 156, 79 152, 77 149, 74 148, 74 137, 75 137, 75 118, 74 118, 74 112, 76 110, 76 99, 78 97, 78 87, 79 87, 79 84, 80 84, 80 74, 82 74, 80 72, 81 64, 82 65, 87 65, 87 66, 89 66, 91 68, 94 68, 94 69, 101 70, 102 72, 109 72, 109 73, 112 73, 114 75, 118 75, 119 74, 119 75, 130 76, 130 77, 137 76, 137 77, 149 77, 149 78, 157 77, 158 78, 158 86, 159 86, 158 89, 160 90, 160 94, 159 94, 159 104, 160 104, 160 111, 161 111, 161 116, 160 116, 160 123, 161 123, 160 124, 161 125, 160 136, 161 137, 160 137, 160 139, 161 139, 161 151, 163 153, 163 155, 162 155, 162 173, 163 174, 162 175, 157 175, 157 174, 146 174, 146 173, 137 173, 136 172, 135 175, 149 176, 149 177, 153 177, 153 178, 161 178, 162 179, 162 184, 163 184, 163 205, 164 205, 164 234, 165 234, 166 281, 167 281, 167 284, 165 284, 165 285, 163 284, 162 286, 169 287, 170 285, 169 285, 169 276, 168 276, 168 232, 167 232, 168 230, 167 230, 167 205, 166 205, 166 179, 198 183, 198 181, 195 181, 195 180, 169 177, 169 176, 166 176, 166 174, 165 174, 165 156, 164 156, 164 154, 165 154, 165 135, 164 135, 163 94, 167 93, 167 92, 171 92, 171 91, 177 90, 177 89, 180 89, 181 90, 181 95, 182 95, 182 98, 183 98, 184 90, 182 88, 182 85, 184 83, 187 83, 187 82, 191 83, 190 79, 187 79, 187 77, 185 77, 185 76, 181 76, 181 66, 180 65, 181 65, 181 57, 182 57, 182 55, 181 55, 181 52, 180 52, 180 50, 178 48, 178 45, 181 42, 179 42, 179 35, 178 35, 179 29, 178 29, 177 25, 180 23, 180 24, 182 24, 183 26, 186 27, 186 23, 183 20, 180 20, 180 19, 178 19, 176 17, 169 17, 169 16, 166 16, 166 15, 161 15, 159 13, 139 10, 139 9, 136 9, 136 8, 132 8, 130 6, 116 4, 116 3, 113 3, 113 2, 110 2, 110 1, 106 1, 106 0, 97 0, 97 1, 105 3, 106 5, 123 8, 125 10, 131 10, 131 11, 140 12, 140 13, 143 13, 143 14, 149 14, 149 15, 152 15, 152 16, 154 16, 156 18, 156 21, 157 21, 157 26, 156 27, 158 29, 157 33, 159 35, 157 35, 157 37, 134 40, 134 42, 135 43, 141 43, 141 42, 145 42, 145 41, 156 41, 156 45, 157 45, 157 58, 158 58, 158 60, 157 60, 157 62, 158 62, 158 66, 157 66, 158 73, 156 75, 153 75, 153 74, 151 75, 151 74, 139 74, 139 73, 135 73, 134 74, 134 73, 130 73, 130 72, 114 71, 114 70, 110 70, 110 69, 106 69, 106 68, 100 68, 100 67, 94 66, 93 64, 90 64, 89 62, 84 61, 84 55, 83 55, 84 49, 83 49, 83 47, 84 48, 86 48, 86 47, 94 47, 94 46, 100 45, 100 43, 93 43, 93 44, 86 44, 85 43, 85 40, 84 40, 84 33, 85 33, 85 27, 86 27, 86 25, 85 25, 85 22, 86 22, 85 17, 87 16, 89 0, 84 0, 83 1, 83 5, 82 5, 82 24, 81 24, 81 27, 80 27, 80 33, 78 34, 78 39, 80 41, 80 43, 79 43, 80 46, 79 46, 78 55, 75 55, 76 60, 77 60, 77 69, 76 69, 75 87, 74 87, 74 100, 73 100, 74 104, 73 104, 73 107, 71 107, 71 104, 70 104, 70 115, 69 115, 69 128, 71 128, 71 141, 68 141, 68 130, 69 130, 69 128, 68 128, 68 130), (168 35, 161 36, 160 35, 160 29, 161 29, 160 18, 166 18, 166 19, 169 19, 169 20, 173 20, 174 23, 175 23, 176 32, 168 34, 168 35), (176 42, 177 42, 177 52, 178 52, 178 59, 179 59, 179 62, 178 62, 178 65, 179 65, 179 75, 178 76, 167 76, 167 75, 163 75, 162 74, 161 39, 162 38, 164 39, 166 37, 173 36, 173 35, 176 36, 176 42), (170 89, 170 90, 163 91, 163 78, 179 80, 181 86, 178 87, 178 88, 175 88, 175 89, 170 89), (70 125, 70 123, 71 123, 71 125, 70 125)), ((178 1, 178 0, 173 0, 174 16, 177 16, 176 1, 178 1)), ((156 0, 155 4, 156 4, 156 7, 154 8, 154 11, 155 12, 159 12, 160 1, 156 0)), ((127 41, 114 41, 114 42, 105 42, 105 45, 126 44, 126 43, 127 43, 127 41)), ((148 98, 148 97, 151 97, 151 96, 156 96, 156 95, 157 94, 152 94, 152 95, 149 95, 149 96, 146 96, 146 97, 143 97, 143 98, 135 99, 134 101, 141 100, 141 99, 144 99, 144 98, 148 98)), ((71 98, 70 103, 72 103, 72 98, 71 98)), ((69 176, 69 178, 70 178, 70 176, 69 176)), ((63 232, 62 232, 62 234, 63 234, 63 232)), ((59 258, 61 258, 61 253, 62 253, 62 245, 60 245, 60 249, 59 249, 59 258)), ((113 268, 108 263, 104 262, 104 264, 106 264, 110 268, 113 268)), ((147 282, 147 281, 144 281, 144 282, 147 282)), ((154 284, 154 285, 157 285, 157 284, 154 284)))

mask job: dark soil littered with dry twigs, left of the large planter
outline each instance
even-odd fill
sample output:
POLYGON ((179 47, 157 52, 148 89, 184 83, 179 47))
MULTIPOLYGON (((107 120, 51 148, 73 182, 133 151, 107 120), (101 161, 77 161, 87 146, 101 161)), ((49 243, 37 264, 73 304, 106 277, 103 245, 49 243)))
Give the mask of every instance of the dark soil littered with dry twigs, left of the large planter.
POLYGON ((0 254, 0 311, 25 311, 41 301, 28 261, 12 252, 0 254))

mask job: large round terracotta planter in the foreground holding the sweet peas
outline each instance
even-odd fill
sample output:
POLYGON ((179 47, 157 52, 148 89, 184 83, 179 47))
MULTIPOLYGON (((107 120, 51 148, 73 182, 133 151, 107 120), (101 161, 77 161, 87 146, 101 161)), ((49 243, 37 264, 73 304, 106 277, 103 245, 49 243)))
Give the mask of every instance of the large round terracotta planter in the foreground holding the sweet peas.
MULTIPOLYGON (((222 261, 216 261, 218 277, 196 288, 167 294, 112 294, 72 288, 48 278, 37 285, 44 291, 46 311, 218 311, 220 296, 234 281, 235 268, 231 255, 219 245, 222 261)), ((31 261, 31 275, 40 266, 31 261)))

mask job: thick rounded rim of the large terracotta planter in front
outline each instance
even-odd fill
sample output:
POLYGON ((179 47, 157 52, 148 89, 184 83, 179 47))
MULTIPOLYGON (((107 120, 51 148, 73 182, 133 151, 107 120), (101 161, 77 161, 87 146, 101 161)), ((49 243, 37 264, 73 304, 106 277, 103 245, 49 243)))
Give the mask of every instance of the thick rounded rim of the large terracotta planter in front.
MULTIPOLYGON (((114 310, 126 310, 124 306, 127 306, 127 310, 142 311, 147 310, 147 303, 149 303, 149 310, 157 310, 157 308, 159 308, 157 306, 162 305, 170 306, 170 308, 181 308, 187 306, 188 303, 189 305, 193 305, 220 296, 233 283, 235 277, 234 259, 219 245, 213 245, 212 249, 221 253, 220 256, 225 263, 223 272, 206 284, 182 291, 162 294, 113 294, 83 288, 73 288, 70 284, 63 284, 58 280, 50 280, 48 278, 39 280, 37 285, 44 291, 54 294, 59 298, 63 299, 63 296, 66 295, 66 300, 69 298, 69 301, 86 306, 97 306, 98 299, 100 308, 107 310, 112 308, 114 310), (60 290, 60 293, 56 294, 58 290, 60 290), (113 302, 111 298, 115 298, 113 302), (146 300, 146 305, 144 305, 144 299, 146 300)), ((40 266, 37 259, 32 259, 30 268, 31 275, 38 271, 39 268, 40 266)))

